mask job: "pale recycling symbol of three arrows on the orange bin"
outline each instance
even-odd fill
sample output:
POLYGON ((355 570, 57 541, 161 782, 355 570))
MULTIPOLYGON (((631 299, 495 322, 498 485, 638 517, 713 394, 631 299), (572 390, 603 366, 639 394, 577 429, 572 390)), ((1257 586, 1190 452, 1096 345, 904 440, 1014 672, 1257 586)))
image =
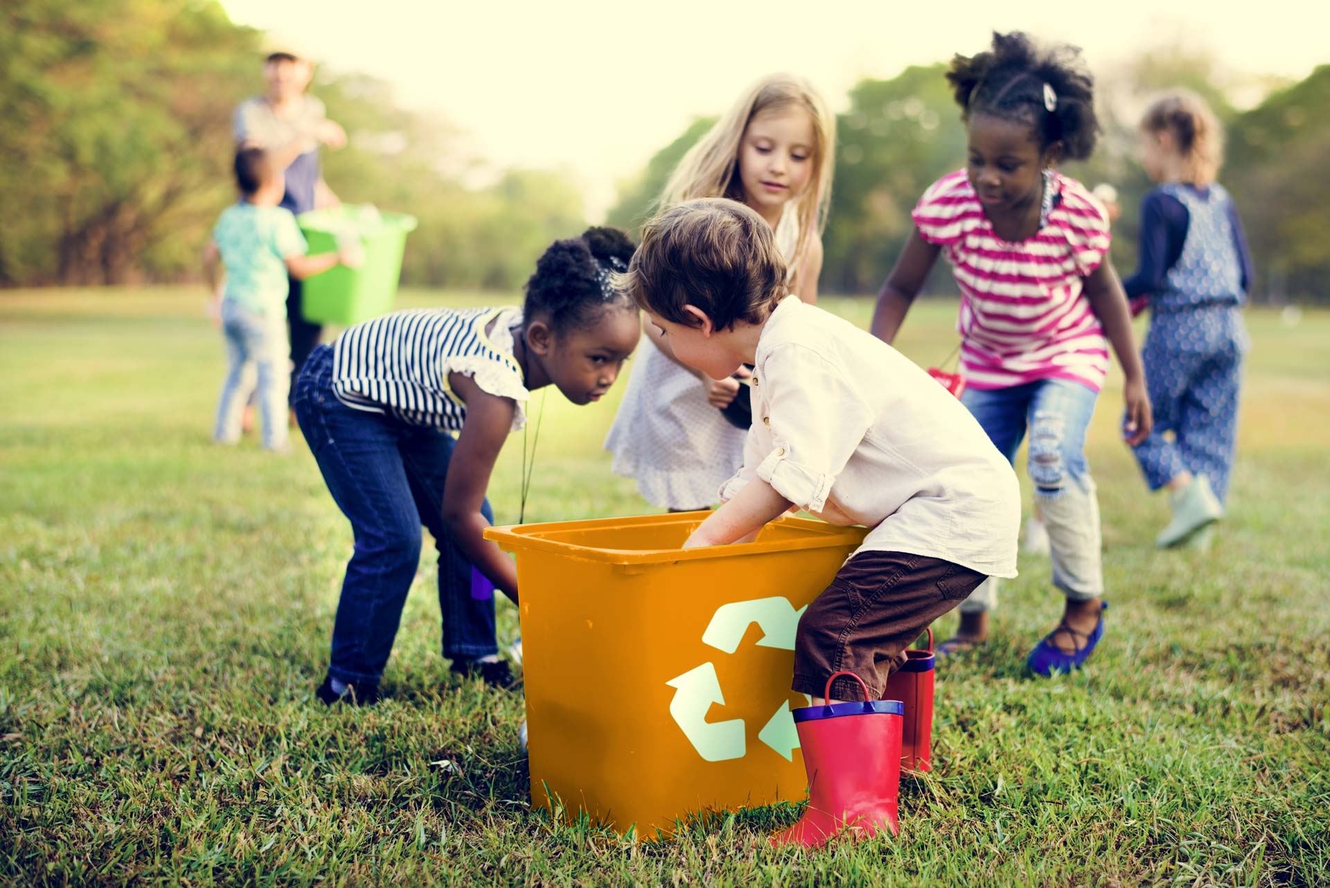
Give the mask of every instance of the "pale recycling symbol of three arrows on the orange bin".
MULTIPOLYGON (((779 596, 721 605, 702 633, 702 643, 733 654, 738 650, 749 626, 757 623, 763 633, 757 642, 759 647, 794 650, 794 633, 805 610, 806 606, 795 610, 789 600, 779 596)), ((725 706, 714 663, 708 661, 665 683, 674 689, 669 714, 698 755, 708 762, 726 762, 741 759, 747 754, 743 719, 706 721, 706 713, 713 703, 725 706)), ((781 703, 781 709, 775 710, 757 736, 786 762, 794 760, 794 750, 799 748, 799 735, 794 727, 794 717, 790 715, 789 701, 781 703)))

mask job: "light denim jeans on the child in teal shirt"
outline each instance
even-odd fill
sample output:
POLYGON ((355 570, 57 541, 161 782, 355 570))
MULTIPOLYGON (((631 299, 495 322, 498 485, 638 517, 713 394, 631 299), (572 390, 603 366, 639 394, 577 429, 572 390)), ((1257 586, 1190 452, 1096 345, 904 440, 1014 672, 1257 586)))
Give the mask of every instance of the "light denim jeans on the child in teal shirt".
POLYGON ((213 440, 234 444, 241 437, 241 411, 249 400, 245 391, 245 368, 258 370, 259 415, 263 420, 263 447, 286 447, 286 364, 291 350, 286 342, 286 322, 275 315, 261 315, 222 300, 222 334, 230 364, 217 404, 213 440))

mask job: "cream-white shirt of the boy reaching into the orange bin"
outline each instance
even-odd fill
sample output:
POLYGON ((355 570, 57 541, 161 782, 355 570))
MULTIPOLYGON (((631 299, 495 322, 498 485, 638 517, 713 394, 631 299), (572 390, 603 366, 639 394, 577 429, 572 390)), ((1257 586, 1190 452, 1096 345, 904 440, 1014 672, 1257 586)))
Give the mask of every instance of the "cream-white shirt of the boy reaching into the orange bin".
POLYGON ((859 552, 1016 576, 1020 487, 979 423, 895 348, 797 296, 762 330, 743 468, 721 499, 753 477, 825 521, 870 528, 859 552))

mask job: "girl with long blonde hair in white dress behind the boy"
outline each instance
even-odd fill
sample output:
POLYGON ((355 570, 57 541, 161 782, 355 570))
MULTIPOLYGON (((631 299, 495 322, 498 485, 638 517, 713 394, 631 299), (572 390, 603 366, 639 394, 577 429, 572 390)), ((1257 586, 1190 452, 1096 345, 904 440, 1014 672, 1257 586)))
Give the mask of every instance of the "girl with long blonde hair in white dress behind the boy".
MULTIPOLYGON (((753 207, 775 231, 791 290, 814 303, 834 157, 835 117, 822 97, 801 78, 765 77, 689 150, 661 203, 726 197, 753 207)), ((747 392, 741 395, 730 374, 710 379, 676 360, 666 343, 646 338, 653 344, 633 363, 605 449, 614 455, 614 473, 636 477, 652 505, 709 508, 743 460, 750 420, 738 411, 743 428, 737 428, 717 408, 747 392)), ((746 375, 743 368, 737 374, 746 375)))

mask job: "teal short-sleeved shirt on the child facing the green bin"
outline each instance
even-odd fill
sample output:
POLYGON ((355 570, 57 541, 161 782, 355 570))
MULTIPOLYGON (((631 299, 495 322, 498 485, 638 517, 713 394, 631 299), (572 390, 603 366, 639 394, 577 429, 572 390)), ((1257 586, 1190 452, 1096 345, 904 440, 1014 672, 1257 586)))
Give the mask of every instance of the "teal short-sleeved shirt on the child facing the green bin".
POLYGON ((309 245, 291 211, 241 202, 222 210, 213 242, 226 266, 229 299, 246 311, 286 316, 286 257, 305 255, 309 245))

